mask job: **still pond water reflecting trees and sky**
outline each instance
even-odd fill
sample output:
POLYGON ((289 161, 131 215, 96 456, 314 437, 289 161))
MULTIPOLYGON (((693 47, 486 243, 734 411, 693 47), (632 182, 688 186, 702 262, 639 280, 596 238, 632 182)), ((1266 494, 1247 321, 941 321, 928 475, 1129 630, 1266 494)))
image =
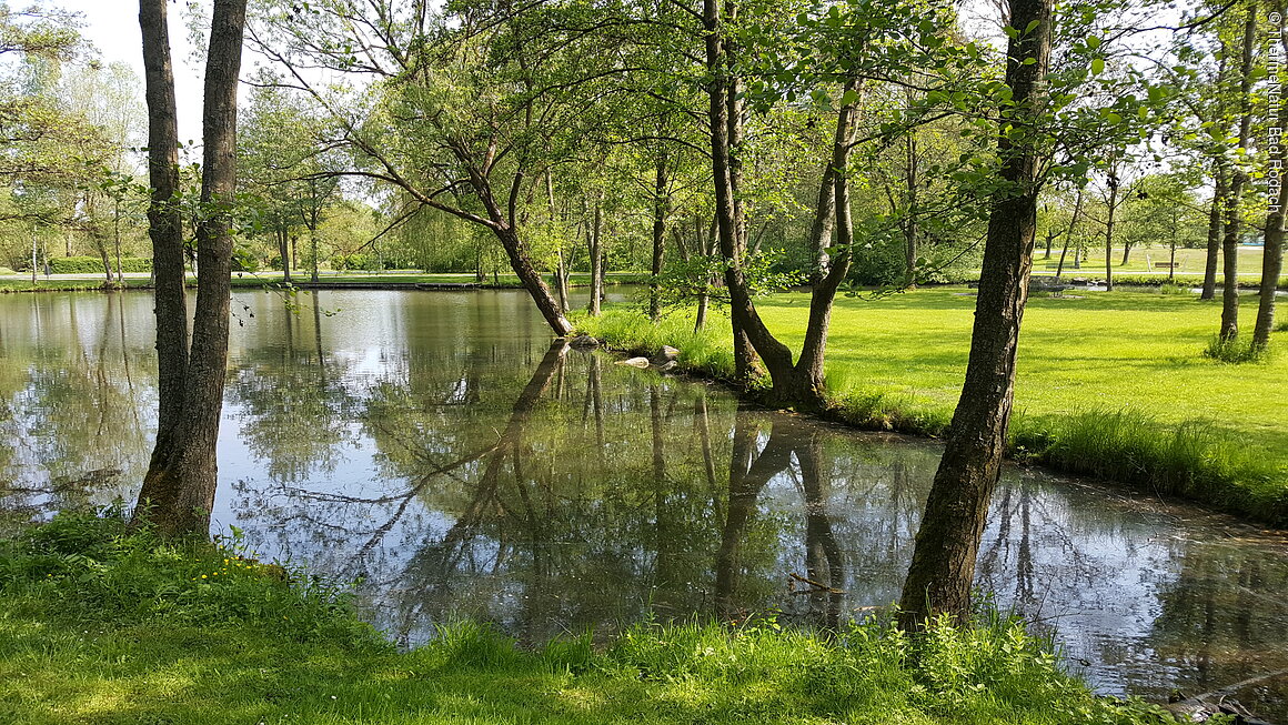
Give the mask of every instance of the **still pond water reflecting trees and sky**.
MULTIPOLYGON (((526 641, 641 617, 894 601, 930 443, 739 411, 726 393, 549 349, 518 292, 234 296, 216 527, 362 578, 403 643, 453 617, 526 641), (792 578, 841 594, 804 594, 792 578)), ((155 407, 146 294, 0 296, 4 527, 133 501, 155 407)), ((1009 469, 979 586, 1106 693, 1288 668, 1288 538, 1009 469)), ((1238 692, 1288 716, 1288 676, 1238 692)))

